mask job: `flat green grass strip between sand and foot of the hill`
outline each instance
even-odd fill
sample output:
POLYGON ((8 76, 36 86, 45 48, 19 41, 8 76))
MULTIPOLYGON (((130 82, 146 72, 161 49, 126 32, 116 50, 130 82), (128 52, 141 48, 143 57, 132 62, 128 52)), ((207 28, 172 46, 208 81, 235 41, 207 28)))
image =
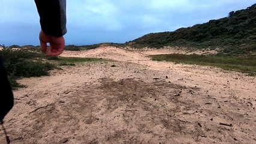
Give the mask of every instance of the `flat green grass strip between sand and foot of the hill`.
POLYGON ((184 64, 196 65, 209 65, 220 67, 224 70, 236 70, 249 75, 256 75, 256 59, 255 56, 251 57, 238 57, 238 56, 221 56, 221 55, 153 55, 151 56, 154 61, 171 61, 184 64))

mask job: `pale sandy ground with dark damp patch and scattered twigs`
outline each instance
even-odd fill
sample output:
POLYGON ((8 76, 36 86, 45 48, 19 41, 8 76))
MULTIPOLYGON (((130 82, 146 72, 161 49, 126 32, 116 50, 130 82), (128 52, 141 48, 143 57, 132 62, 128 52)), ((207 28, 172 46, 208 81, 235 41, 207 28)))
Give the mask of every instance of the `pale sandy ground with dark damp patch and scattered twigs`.
POLYGON ((64 52, 114 61, 20 80, 27 87, 14 91, 5 119, 11 143, 256 143, 255 77, 153 53, 173 51, 64 52))

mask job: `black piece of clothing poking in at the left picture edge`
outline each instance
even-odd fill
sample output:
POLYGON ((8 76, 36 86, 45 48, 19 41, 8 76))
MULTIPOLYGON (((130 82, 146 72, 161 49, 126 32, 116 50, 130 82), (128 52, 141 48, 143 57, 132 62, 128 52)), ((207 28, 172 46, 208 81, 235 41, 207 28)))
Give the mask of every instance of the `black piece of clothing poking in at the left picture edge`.
POLYGON ((0 56, 0 121, 2 121, 5 115, 11 110, 13 103, 13 92, 11 91, 11 86, 0 56))

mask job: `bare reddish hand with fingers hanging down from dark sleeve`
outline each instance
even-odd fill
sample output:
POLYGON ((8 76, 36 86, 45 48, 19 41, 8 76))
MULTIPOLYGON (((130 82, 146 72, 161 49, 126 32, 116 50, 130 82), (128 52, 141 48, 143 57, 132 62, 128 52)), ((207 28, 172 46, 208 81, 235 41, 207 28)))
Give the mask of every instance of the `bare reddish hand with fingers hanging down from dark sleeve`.
POLYGON ((60 55, 65 47, 64 37, 53 37, 44 34, 43 31, 39 34, 41 51, 46 53, 46 56, 58 56, 60 55), (47 51, 47 43, 50 43, 50 50, 47 51))

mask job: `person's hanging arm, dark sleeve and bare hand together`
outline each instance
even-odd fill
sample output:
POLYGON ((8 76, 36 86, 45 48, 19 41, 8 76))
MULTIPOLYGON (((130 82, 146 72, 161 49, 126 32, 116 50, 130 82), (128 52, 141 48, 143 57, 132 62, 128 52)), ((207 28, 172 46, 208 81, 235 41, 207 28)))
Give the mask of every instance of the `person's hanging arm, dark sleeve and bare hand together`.
POLYGON ((40 16, 41 32, 39 35, 42 52, 47 56, 56 56, 63 52, 66 28, 66 0, 35 0, 40 16), (50 50, 47 52, 47 43, 50 50))

